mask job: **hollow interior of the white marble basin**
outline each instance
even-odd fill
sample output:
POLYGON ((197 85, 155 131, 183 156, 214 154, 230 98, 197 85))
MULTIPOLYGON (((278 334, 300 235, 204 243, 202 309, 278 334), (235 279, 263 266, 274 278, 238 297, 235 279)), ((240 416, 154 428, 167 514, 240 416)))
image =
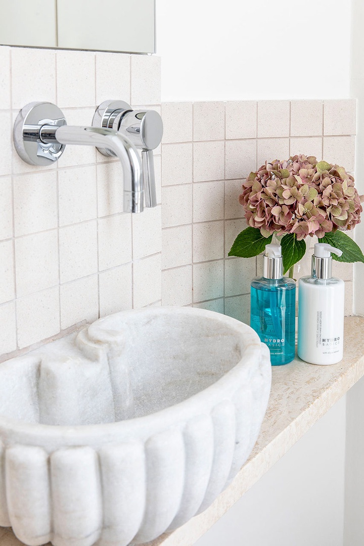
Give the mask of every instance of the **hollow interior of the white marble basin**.
POLYGON ((118 313, 3 364, 0 414, 47 425, 146 416, 216 383, 244 348, 215 316, 118 313))

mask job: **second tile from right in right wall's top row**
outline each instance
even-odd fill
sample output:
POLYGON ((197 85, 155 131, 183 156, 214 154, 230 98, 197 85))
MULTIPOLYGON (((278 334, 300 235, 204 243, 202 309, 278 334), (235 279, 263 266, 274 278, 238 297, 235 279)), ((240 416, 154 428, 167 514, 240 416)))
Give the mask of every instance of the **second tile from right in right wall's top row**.
POLYGON ((322 100, 291 100, 291 136, 322 134, 322 100))

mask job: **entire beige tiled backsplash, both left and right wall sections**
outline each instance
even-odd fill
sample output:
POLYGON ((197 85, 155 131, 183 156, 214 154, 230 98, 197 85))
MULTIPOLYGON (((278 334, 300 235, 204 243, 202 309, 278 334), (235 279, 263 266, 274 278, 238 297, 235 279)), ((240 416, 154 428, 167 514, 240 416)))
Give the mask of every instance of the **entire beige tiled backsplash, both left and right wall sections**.
MULTIPOLYGON (((13 122, 40 100, 76 125, 106 99, 160 112, 159 58, 2 46, 0 66, 0 355, 161 299, 247 321, 260 262, 227 257, 246 225, 244 177, 294 153, 354 170, 353 100, 165 103, 161 175, 154 153, 163 206, 124 214, 117 160, 67 146, 56 165, 32 167, 14 150, 13 122)), ((335 266, 349 295, 351 266, 335 266)))

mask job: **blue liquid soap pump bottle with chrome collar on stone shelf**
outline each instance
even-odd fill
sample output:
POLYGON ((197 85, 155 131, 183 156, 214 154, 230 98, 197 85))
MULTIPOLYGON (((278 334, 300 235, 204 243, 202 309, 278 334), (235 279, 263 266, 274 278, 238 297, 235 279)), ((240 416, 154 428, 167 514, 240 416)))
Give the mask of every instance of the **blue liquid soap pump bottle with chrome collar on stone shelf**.
POLYGON ((263 260, 263 276, 250 284, 250 326, 281 366, 295 358, 296 283, 283 277, 281 245, 266 245, 263 260))

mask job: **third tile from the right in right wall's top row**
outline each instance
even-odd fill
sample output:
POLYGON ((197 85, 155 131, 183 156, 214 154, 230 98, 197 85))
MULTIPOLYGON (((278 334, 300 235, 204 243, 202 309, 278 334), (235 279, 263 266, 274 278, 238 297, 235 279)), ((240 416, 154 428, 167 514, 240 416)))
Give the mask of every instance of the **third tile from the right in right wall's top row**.
POLYGON ((258 138, 289 136, 289 100, 258 100, 258 138))

